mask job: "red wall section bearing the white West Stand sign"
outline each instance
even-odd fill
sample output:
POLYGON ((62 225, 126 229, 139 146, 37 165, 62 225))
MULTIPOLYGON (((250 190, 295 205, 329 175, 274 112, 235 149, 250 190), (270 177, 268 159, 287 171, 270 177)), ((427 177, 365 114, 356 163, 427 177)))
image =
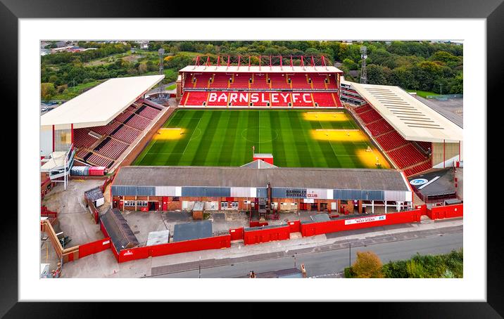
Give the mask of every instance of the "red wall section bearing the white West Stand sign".
MULTIPOLYGON (((413 223, 419 222, 421 211, 403 211, 401 213, 391 213, 386 215, 377 215, 377 216, 386 216, 386 219, 382 221, 370 221, 367 223, 353 223, 349 225, 345 225, 345 219, 340 219, 337 221, 322 221, 319 223, 305 223, 301 224, 301 234, 303 237, 320 235, 325 233, 334 233, 342 230, 353 230, 360 228, 369 228, 369 227, 377 227, 377 226, 385 226, 385 225, 393 225, 396 223, 413 223)), ((366 217, 358 217, 366 218, 366 217)))

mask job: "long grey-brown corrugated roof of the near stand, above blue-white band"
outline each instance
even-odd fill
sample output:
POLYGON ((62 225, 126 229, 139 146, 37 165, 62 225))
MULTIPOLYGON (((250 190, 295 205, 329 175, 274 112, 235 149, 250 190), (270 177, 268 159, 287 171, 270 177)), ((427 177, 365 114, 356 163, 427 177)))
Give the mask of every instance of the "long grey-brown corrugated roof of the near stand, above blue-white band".
POLYGON ((392 169, 255 169, 246 167, 122 167, 113 185, 328 188, 409 191, 392 169))

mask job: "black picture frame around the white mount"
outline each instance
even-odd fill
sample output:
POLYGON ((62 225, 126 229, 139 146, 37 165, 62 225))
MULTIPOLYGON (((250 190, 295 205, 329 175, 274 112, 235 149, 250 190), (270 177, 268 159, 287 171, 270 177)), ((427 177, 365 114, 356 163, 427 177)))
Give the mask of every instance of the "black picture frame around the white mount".
MULTIPOLYGON (((63 1, 39 0, 18 1, 0 0, 0 33, 4 40, 4 48, 0 49, 0 63, 4 65, 0 76, 0 87, 6 92, 4 96, 11 98, 10 105, 18 105, 18 19, 20 18, 483 18, 486 19, 487 44, 487 90, 488 105, 491 101, 499 101, 503 84, 504 46, 502 32, 504 31, 503 0, 489 1, 455 1, 455 0, 361 0, 342 1, 241 1, 241 6, 229 3, 229 7, 203 5, 194 1, 151 1, 143 4, 138 1, 63 1), (249 6, 245 6, 249 4, 249 6)), ((204 35, 205 37, 208 35, 204 35)), ((470 76, 470 74, 466 74, 470 76)), ((500 103, 502 105, 502 103, 500 103)), ((501 107, 502 108, 502 107, 501 107)), ((486 109, 489 110, 488 108, 486 109)), ((17 111, 17 110, 16 110, 17 111)), ((18 112, 13 112, 18 117, 18 112)), ((488 117, 491 119, 491 117, 488 117)), ((18 118, 18 122, 21 119, 18 118)), ((490 127, 488 124, 487 127, 490 127)), ((488 138, 491 134, 487 134, 488 138)), ((489 145, 489 143, 487 143, 489 145)), ((22 145, 17 145, 22 147, 22 145)), ((488 149, 488 148, 487 148, 488 149)), ((502 159, 500 159, 500 163, 502 159)), ((488 167, 496 167, 498 158, 488 162, 488 167)), ((19 167, 18 167, 19 169, 19 167)), ((11 170, 14 174, 18 170, 11 170)), ((7 178, 7 177, 6 177, 7 178)), ((15 181, 15 178, 9 178, 15 181)), ((14 189, 13 185, 11 187, 14 189)), ((16 188, 17 189, 17 188, 16 188)), ((489 185, 487 189, 490 191, 489 185)), ((20 194, 18 194, 19 200, 20 194)), ((481 199, 487 203, 487 199, 481 199)), ((483 207, 483 205, 481 206, 483 207)), ((487 214, 487 301, 486 302, 435 302, 435 303, 365 303, 359 305, 358 315, 370 313, 374 316, 393 318, 502 318, 504 275, 502 235, 500 226, 503 213, 487 214), (490 258, 491 257, 491 258, 490 258)), ((472 214, 474 212, 469 212, 472 214)), ((18 218, 15 214, 2 216, 2 237, 0 251, 0 316, 5 318, 60 318, 60 317, 92 317, 104 314, 103 310, 89 303, 29 303, 18 302, 18 218)), ((97 287, 97 289, 101 289, 97 287)), ((65 293, 65 292, 62 292, 65 293)), ((448 298, 449 296, 447 296, 448 298)), ((356 299, 358 296, 356 296, 356 299)), ((130 313, 130 307, 111 305, 115 314, 123 311, 130 313)), ((157 304, 153 306, 157 308, 157 304)), ((244 314, 249 306, 241 306, 244 314)), ((338 304, 343 307, 355 308, 351 304, 338 304)), ((149 307, 152 309, 153 307, 149 307)), ((187 306, 186 306, 187 308, 187 306)), ((191 307, 194 308, 199 307, 191 307)), ((283 306, 275 306, 277 311, 285 311, 283 306)), ((336 311, 336 307, 330 307, 336 311)), ((204 308, 201 308, 204 311, 204 308)), ((313 310, 313 309, 312 309, 313 310)), ((268 310, 270 311, 270 310, 268 310)), ((297 311, 296 311, 297 313, 297 311)), ((132 313, 130 313, 132 314, 132 313)), ((172 312, 172 314, 174 314, 172 312)))

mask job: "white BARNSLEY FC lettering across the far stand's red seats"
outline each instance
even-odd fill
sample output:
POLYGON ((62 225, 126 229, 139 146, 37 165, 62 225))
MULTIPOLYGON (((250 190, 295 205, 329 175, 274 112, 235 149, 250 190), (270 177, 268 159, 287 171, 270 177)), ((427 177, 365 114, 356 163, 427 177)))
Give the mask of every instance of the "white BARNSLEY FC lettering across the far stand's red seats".
POLYGON ((289 95, 292 96, 292 102, 304 102, 313 103, 310 93, 282 93, 282 92, 232 92, 229 93, 229 100, 227 92, 217 93, 210 92, 208 96, 208 102, 219 102, 219 103, 248 103, 248 96, 250 96, 250 101, 252 103, 284 103, 287 105, 291 102, 289 95), (271 96, 271 98, 270 98, 271 96))

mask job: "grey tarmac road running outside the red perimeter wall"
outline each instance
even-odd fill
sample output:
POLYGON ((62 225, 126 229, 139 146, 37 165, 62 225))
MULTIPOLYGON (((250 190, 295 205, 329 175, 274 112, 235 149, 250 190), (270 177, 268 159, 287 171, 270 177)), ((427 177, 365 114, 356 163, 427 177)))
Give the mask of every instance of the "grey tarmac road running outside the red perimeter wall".
MULTIPOLYGON (((451 252, 453 249, 462 248, 462 239, 462 232, 460 232, 431 237, 420 237, 410 240, 384 242, 364 247, 352 247, 351 262, 355 261, 355 252, 365 250, 372 250, 378 254, 383 263, 409 259, 417 252, 419 254, 445 254, 451 252)), ((293 254, 293 256, 202 268, 201 274, 199 269, 194 269, 191 271, 152 276, 150 278, 199 278, 200 276, 201 278, 238 278, 248 274, 250 271, 265 273, 293 267, 299 268, 301 263, 305 264, 308 277, 327 278, 334 276, 335 273, 344 271, 344 268, 348 267, 348 258, 349 249, 305 252, 293 254)))

